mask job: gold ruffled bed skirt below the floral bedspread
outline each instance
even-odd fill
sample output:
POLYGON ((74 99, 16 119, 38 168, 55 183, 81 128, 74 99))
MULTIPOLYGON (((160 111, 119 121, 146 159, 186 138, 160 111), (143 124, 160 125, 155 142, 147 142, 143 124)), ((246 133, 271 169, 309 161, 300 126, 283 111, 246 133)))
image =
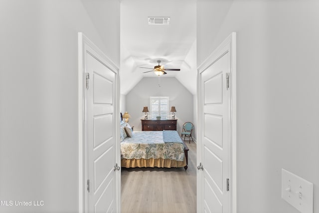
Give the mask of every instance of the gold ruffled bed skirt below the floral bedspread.
POLYGON ((185 167, 187 165, 186 158, 184 161, 175 161, 170 159, 122 159, 121 166, 125 168, 135 167, 159 167, 159 168, 172 168, 172 167, 185 167))

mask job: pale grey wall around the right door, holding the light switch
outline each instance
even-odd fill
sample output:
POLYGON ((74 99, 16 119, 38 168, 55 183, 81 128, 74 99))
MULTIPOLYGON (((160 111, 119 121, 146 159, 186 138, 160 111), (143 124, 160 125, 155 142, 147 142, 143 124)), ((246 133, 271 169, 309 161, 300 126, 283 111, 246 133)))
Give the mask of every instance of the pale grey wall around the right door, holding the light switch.
POLYGON ((319 213, 319 1, 197 2, 198 64, 237 32, 237 212, 298 213, 281 199, 285 168, 315 184, 319 213))

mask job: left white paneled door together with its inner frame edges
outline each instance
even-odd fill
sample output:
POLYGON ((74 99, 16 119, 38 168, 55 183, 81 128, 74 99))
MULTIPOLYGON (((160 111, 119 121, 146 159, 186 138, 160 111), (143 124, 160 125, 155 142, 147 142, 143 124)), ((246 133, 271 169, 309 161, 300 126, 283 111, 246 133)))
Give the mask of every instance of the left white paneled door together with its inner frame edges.
POLYGON ((117 71, 93 49, 84 53, 84 212, 119 212, 117 71))

